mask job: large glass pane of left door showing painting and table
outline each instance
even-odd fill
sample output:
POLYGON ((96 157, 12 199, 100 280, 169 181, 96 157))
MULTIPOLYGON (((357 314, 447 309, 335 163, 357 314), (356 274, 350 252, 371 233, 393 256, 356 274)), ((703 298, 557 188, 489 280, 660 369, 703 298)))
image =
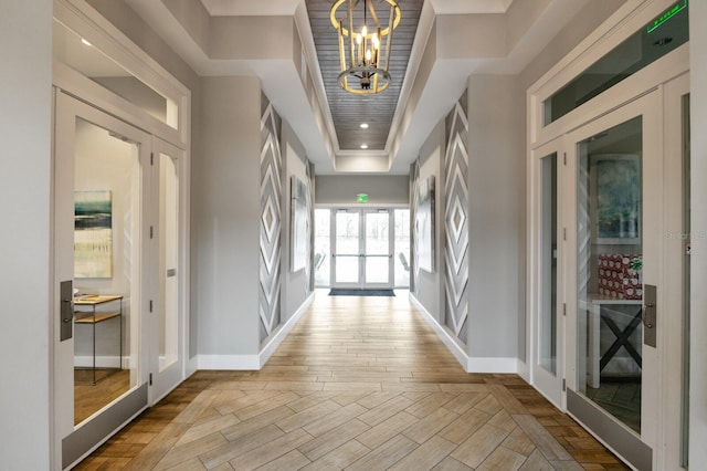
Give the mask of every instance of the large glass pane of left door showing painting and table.
POLYGON ((74 147, 74 423, 137 383, 130 326, 138 253, 139 148, 76 118, 74 147), (110 297, 109 297, 110 296, 110 297), (108 301, 112 300, 112 301, 108 301), (109 393, 108 393, 109 391, 109 393))

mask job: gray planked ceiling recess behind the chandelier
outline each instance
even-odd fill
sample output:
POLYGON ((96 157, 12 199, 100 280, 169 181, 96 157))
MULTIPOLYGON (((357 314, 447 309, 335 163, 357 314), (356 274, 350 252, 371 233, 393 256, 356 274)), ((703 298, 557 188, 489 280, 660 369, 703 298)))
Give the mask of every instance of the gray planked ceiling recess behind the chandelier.
MULTIPOLYGON (((398 106, 423 0, 398 1, 401 20, 393 32, 388 69, 391 75, 390 85, 383 92, 373 95, 356 95, 345 92, 339 86, 338 36, 329 21, 329 11, 334 2, 306 0, 305 3, 339 148, 358 150, 361 144, 367 144, 369 150, 383 150, 398 106), (369 128, 361 129, 361 123, 368 123, 369 128)), ((380 0, 373 0, 373 6, 378 12, 388 10, 388 3, 380 0)), ((358 10, 360 8, 359 4, 358 10)))

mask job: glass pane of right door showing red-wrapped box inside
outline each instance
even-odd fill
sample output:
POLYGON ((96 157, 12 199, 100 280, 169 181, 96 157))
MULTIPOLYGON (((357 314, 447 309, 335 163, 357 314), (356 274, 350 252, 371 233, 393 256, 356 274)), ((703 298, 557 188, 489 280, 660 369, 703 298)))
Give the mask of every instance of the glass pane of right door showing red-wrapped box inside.
POLYGON ((579 390, 641 433, 643 126, 637 116, 577 145, 579 390), (580 369, 581 367, 581 369, 580 369))

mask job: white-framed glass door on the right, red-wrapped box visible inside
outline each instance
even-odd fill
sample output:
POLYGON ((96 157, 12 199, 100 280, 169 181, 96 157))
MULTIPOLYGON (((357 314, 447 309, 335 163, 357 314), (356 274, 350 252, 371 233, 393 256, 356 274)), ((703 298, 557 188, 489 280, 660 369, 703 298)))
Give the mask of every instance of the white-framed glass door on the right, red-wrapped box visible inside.
MULTIPOLYGON (((662 429, 677 410, 679 271, 665 237, 682 213, 676 151, 665 151, 668 100, 654 91, 566 135, 568 172, 567 409, 637 469, 659 468, 662 429), (664 102, 665 100, 665 102, 664 102)), ((679 135, 679 132, 676 133, 679 135)), ((675 139, 679 140, 679 139, 675 139)), ((677 227, 676 231, 679 232, 677 227)))

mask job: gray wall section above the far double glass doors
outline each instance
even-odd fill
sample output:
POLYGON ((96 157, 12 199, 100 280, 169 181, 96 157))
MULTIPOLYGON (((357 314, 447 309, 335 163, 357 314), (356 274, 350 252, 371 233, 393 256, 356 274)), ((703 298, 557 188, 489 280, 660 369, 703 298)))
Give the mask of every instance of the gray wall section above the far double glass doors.
POLYGON ((316 205, 356 205, 358 193, 368 193, 370 206, 410 202, 410 178, 404 175, 319 175, 315 188, 316 205))

